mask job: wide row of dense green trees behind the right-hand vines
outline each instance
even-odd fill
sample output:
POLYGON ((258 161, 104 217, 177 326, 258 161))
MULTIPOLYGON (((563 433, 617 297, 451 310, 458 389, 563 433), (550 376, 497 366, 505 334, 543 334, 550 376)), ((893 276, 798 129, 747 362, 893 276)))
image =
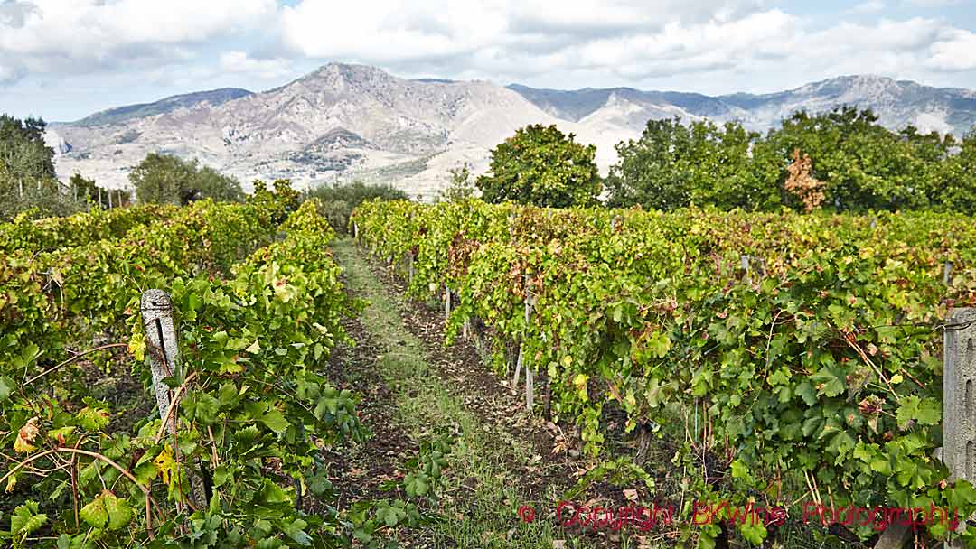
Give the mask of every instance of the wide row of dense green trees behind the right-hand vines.
POLYGON ((785 190, 787 167, 798 152, 809 155, 810 176, 824 183, 825 208, 973 213, 972 137, 967 141, 956 154, 952 136, 920 134, 911 126, 891 132, 870 110, 852 107, 796 112, 766 136, 736 123, 719 128, 651 120, 639 139, 617 145, 608 204, 802 210, 800 198, 785 190))

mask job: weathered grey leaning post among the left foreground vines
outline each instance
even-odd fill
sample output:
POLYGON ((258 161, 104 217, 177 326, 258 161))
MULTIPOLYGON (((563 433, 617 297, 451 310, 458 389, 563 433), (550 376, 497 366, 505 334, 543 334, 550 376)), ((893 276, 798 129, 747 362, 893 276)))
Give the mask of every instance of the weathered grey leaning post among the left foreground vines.
MULTIPOLYGON (((142 327, 145 329, 149 368, 152 371, 152 391, 156 394, 159 418, 166 424, 167 432, 173 433, 177 447, 177 411, 173 406, 173 393, 163 379, 173 375, 180 364, 180 346, 177 343, 176 326, 173 322, 173 301, 162 290, 146 290, 142 293, 142 327)), ((198 508, 207 504, 206 489, 200 477, 188 476, 192 487, 192 499, 198 508)), ((178 502, 178 507, 180 507, 178 502)))

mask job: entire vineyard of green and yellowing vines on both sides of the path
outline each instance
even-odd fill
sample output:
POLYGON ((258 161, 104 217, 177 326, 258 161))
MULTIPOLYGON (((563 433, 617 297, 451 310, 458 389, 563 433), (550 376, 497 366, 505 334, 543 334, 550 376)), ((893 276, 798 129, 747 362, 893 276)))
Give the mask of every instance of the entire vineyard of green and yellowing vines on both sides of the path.
MULTIPOLYGON (((503 400, 570 433, 567 448, 581 452, 559 459, 581 464, 580 479, 563 493, 617 475, 685 517, 725 509, 633 546, 772 546, 776 526, 729 515, 753 505, 976 512, 976 490, 938 457, 944 340, 967 328, 950 312, 976 306, 969 217, 373 201, 349 232, 355 245, 285 185, 244 204, 0 225, 0 540, 392 547, 410 539, 397 532, 429 528, 451 546, 503 547, 526 531, 572 535, 522 524, 532 520, 515 515, 527 501, 517 490, 491 500, 505 506, 492 531, 458 518, 473 514, 459 493, 521 457, 506 450, 502 465, 476 470, 491 447, 472 431, 494 428, 497 400, 477 415, 453 402, 446 418, 418 409, 468 404, 458 395, 487 386, 464 387, 487 383, 479 373, 394 368, 376 391, 335 378, 337 353, 364 346, 359 356, 386 364, 422 344, 406 331, 384 338, 384 310, 356 294, 373 275, 350 258, 367 251, 397 273, 375 284, 393 292, 401 276, 408 296, 435 304, 418 314, 446 313, 429 360, 442 341, 473 342, 487 358, 465 361, 519 391, 503 400), (155 315, 172 315, 175 347, 155 315), (430 388, 442 385, 460 393, 430 388), (399 408, 384 420, 427 429, 377 421, 369 399, 384 394, 382 407, 399 408), (381 446, 380 467, 364 472, 348 460, 373 444, 371 430, 411 440, 381 446)), ((519 471, 540 470, 547 456, 535 453, 519 471)), ((542 491, 532 503, 552 504, 542 491)), ((976 542, 972 529, 926 529, 924 539, 976 542)))

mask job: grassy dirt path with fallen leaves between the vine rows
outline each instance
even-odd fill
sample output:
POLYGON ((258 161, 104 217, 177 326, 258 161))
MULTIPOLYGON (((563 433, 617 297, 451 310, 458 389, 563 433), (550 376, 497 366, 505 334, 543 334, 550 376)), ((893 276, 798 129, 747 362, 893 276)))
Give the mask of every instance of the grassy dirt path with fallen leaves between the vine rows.
MULTIPOLYGON (((637 547, 635 541, 610 530, 564 530, 556 521, 563 494, 586 472, 579 460, 579 441, 542 417, 537 408, 525 411, 523 386, 516 391, 510 380, 491 373, 473 339, 459 337, 444 345, 442 309, 408 299, 404 281, 382 260, 369 256, 349 241, 334 247, 345 271, 350 294, 373 303, 362 318, 347 319, 346 332, 356 341, 339 345, 330 360, 330 377, 341 387, 362 395, 358 405, 363 422, 374 432, 369 443, 349 455, 332 455, 336 463, 330 477, 344 500, 388 497, 382 485, 399 480, 398 464, 417 449, 412 431, 417 417, 424 421, 454 422, 460 432, 460 465, 449 471, 441 511, 447 524, 410 534, 411 547, 637 547), (384 315, 394 318, 386 319, 384 315), (424 385, 415 385, 407 373, 390 377, 384 366, 390 358, 423 361, 427 379, 440 392, 423 400, 424 385), (414 399, 417 400, 416 403, 414 399), (446 404, 443 401, 447 401, 446 404), (435 404, 448 412, 427 418, 417 405, 435 404), (452 417, 451 410, 457 407, 452 417), (457 417, 468 420, 454 421, 457 417), (518 510, 535 513, 526 524, 518 510)), ((433 427, 433 425, 427 425, 433 427)), ((594 483, 579 502, 626 502, 622 490, 594 483)), ((574 501, 576 499, 574 498, 574 501)), ((405 540, 401 539, 401 544, 405 540)), ((642 545, 671 546, 652 544, 642 545)))

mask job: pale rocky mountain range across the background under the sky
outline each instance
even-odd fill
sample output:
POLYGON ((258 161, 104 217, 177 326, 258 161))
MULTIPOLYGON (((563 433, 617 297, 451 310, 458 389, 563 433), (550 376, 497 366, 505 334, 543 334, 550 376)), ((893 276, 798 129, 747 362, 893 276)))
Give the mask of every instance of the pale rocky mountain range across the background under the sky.
POLYGON ((879 76, 841 76, 774 94, 705 96, 631 88, 573 91, 486 81, 407 80, 330 63, 280 88, 198 92, 122 106, 49 126, 59 176, 128 184, 149 152, 196 158, 237 176, 289 177, 298 187, 359 178, 430 198, 463 163, 484 171, 488 151, 517 128, 555 124, 597 147, 602 171, 614 145, 650 119, 738 120, 764 131, 796 110, 872 108, 892 129, 963 135, 976 125, 976 92, 879 76))

